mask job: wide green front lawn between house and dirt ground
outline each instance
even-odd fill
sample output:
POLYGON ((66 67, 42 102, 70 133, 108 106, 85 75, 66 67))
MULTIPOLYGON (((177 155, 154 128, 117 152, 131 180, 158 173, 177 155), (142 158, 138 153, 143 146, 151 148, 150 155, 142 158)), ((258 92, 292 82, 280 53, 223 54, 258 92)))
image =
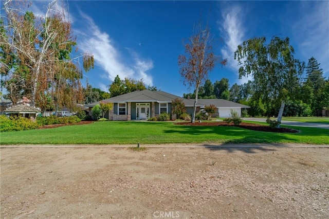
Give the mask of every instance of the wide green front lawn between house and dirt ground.
POLYGON ((186 126, 172 122, 107 121, 54 129, 2 132, 1 144, 307 143, 329 144, 329 130, 294 127, 270 133, 234 126, 186 126))

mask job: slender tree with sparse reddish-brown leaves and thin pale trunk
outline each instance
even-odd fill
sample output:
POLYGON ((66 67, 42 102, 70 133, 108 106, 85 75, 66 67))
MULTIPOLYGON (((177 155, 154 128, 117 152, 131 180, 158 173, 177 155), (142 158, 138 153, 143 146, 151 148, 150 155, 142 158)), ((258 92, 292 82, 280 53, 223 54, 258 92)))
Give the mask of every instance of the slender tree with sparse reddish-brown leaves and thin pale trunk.
POLYGON ((185 54, 181 54, 178 57, 179 74, 183 78, 184 85, 187 85, 189 88, 194 87, 195 90, 192 123, 195 121, 200 85, 208 79, 208 72, 215 67, 216 63, 225 65, 226 62, 227 60, 221 60, 213 52, 213 41, 209 27, 203 28, 199 24, 195 28, 194 34, 190 36, 185 44, 185 54))

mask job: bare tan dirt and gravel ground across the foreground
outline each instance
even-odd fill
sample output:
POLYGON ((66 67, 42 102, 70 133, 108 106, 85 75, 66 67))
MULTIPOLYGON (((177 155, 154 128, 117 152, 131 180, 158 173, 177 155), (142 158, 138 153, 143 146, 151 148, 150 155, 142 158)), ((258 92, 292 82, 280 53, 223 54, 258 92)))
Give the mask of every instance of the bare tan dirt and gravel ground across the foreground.
POLYGON ((1 218, 329 218, 329 148, 1 148, 1 218))

